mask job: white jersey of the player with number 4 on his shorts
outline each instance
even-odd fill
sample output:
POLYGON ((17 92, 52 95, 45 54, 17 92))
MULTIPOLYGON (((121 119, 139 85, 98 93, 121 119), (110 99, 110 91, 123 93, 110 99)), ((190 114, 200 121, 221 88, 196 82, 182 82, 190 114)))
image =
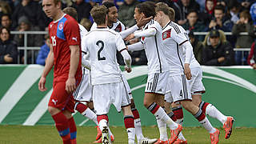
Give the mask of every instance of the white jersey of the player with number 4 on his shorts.
POLYGON ((170 66, 170 75, 184 74, 185 52, 180 46, 189 41, 186 30, 174 22, 169 22, 162 29, 163 46, 166 60, 170 66))

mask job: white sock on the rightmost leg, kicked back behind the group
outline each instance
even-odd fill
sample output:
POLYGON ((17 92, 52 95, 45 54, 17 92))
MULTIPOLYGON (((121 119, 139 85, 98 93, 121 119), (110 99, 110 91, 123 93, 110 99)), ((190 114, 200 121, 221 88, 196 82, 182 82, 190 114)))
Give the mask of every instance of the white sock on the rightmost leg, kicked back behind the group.
POLYGON ((209 115, 211 118, 218 119, 219 122, 222 122, 222 125, 224 125, 224 122, 226 122, 227 117, 222 114, 214 105, 209 104, 206 106, 206 114, 209 115))

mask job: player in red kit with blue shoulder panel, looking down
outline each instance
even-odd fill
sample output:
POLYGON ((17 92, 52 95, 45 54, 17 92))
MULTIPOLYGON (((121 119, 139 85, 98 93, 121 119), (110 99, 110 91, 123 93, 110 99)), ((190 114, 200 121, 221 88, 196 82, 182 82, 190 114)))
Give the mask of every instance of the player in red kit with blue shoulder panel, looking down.
POLYGON ((80 34, 78 22, 61 10, 61 1, 43 0, 42 9, 53 19, 49 25, 50 52, 46 59, 38 89, 45 91, 46 76, 54 66, 54 91, 50 96, 48 111, 54 119, 64 144, 76 143, 76 126, 73 92, 82 78, 80 34))

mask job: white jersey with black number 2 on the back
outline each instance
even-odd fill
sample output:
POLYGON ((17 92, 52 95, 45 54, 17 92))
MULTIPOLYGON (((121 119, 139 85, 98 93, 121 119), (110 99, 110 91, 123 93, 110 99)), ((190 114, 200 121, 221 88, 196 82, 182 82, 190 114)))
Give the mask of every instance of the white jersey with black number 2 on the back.
POLYGON ((89 52, 92 85, 121 82, 116 53, 126 49, 120 34, 108 28, 96 28, 82 38, 89 52))

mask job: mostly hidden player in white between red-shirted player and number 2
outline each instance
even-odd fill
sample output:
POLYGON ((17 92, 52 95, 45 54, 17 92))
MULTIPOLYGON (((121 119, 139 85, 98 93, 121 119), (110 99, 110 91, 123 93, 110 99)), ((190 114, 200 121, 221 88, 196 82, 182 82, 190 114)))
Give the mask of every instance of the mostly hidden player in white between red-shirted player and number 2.
MULTIPOLYGON (((69 14, 72 18, 78 21, 78 12, 74 9, 74 7, 66 7, 63 9, 65 14, 69 14)), ((78 23, 81 39, 84 35, 88 33, 86 28, 78 23)), ((83 51, 82 51, 83 52, 83 51)), ((86 55, 82 53, 82 59, 86 58, 86 55)), ((82 66, 82 80, 78 85, 78 89, 74 92, 75 105, 74 109, 78 110, 80 114, 94 121, 97 127, 97 136, 96 140, 101 138, 102 132, 98 128, 97 115, 90 109, 93 109, 93 106, 90 105, 92 101, 92 93, 90 86, 90 70, 87 70, 84 66, 82 66), (89 107, 89 109, 88 109, 89 107)), ((114 141, 113 134, 111 135, 111 141, 114 141)))

